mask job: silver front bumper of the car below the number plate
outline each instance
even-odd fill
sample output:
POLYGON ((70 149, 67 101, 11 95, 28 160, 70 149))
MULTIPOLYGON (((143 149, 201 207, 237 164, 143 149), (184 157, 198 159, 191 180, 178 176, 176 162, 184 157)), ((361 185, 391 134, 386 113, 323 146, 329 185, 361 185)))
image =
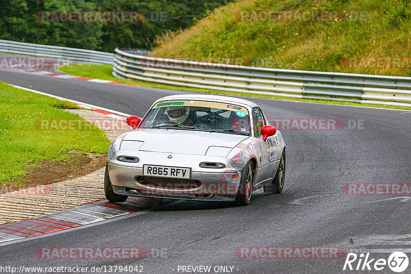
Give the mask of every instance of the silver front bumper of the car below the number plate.
MULTIPOLYGON (((115 193, 120 195, 191 201, 234 201, 240 186, 241 174, 229 172, 191 172, 191 184, 175 184, 176 179, 150 177, 142 183, 143 169, 110 164, 108 174, 115 193), (233 179, 233 175, 238 178, 233 179), (193 184, 195 182, 195 184, 193 184)), ((184 181, 184 180, 182 180, 184 181)))

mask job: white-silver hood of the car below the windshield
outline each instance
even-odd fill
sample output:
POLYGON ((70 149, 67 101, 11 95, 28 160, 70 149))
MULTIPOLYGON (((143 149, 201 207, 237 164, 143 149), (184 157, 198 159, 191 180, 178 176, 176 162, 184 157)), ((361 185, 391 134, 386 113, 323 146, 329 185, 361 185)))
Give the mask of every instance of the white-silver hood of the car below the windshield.
POLYGON ((142 141, 141 151, 206 155, 210 146, 234 148, 249 136, 182 129, 137 129, 123 141, 142 141))

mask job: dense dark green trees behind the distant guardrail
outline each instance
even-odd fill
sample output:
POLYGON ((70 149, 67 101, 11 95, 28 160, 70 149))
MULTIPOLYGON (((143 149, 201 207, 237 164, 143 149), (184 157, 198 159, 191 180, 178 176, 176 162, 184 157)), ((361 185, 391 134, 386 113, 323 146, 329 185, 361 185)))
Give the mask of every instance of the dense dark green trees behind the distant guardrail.
POLYGON ((0 0, 0 39, 113 52, 148 48, 228 0, 0 0), (142 22, 42 22, 41 11, 138 11, 142 22), (161 16, 160 16, 161 15, 161 16))

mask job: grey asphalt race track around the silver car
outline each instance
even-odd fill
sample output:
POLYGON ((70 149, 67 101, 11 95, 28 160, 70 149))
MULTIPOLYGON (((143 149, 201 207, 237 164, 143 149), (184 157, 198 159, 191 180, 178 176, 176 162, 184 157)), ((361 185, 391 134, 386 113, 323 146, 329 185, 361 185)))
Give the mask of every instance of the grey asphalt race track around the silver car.
MULTIPOLYGON (((14 70, 0 70, 0 81, 139 116, 161 96, 187 93, 14 70)), ((287 144, 282 194, 257 190, 246 207, 180 202, 11 242, 0 246, 1 265, 141 265, 144 273, 182 273, 181 266, 210 265, 232 266, 233 273, 342 273, 346 256, 250 259, 237 258, 235 249, 340 247, 358 255, 370 252, 376 259, 387 259, 395 250, 411 253, 411 196, 343 193, 347 183, 411 183, 411 111, 250 100, 268 119, 341 119, 345 128, 279 127, 287 144), (143 247, 148 254, 139 260, 39 259, 35 251, 42 247, 143 247)), ((393 273, 387 266, 378 272, 393 273)))

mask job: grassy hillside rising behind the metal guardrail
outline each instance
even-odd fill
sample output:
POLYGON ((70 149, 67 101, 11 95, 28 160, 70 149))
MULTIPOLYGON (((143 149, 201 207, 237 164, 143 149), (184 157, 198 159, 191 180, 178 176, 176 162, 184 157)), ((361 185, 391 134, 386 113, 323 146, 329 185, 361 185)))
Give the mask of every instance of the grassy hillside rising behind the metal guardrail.
POLYGON ((239 1, 216 9, 190 29, 157 37, 151 55, 225 57, 246 66, 410 76, 410 3, 239 1))

